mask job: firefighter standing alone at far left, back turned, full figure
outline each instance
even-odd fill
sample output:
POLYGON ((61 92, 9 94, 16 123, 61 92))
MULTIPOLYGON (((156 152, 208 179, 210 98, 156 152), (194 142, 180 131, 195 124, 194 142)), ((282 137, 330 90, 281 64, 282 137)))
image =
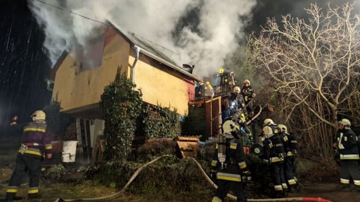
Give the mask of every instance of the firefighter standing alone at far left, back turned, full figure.
POLYGON ((14 199, 21 180, 27 172, 30 176, 28 197, 29 199, 38 198, 42 159, 45 156, 48 159, 51 158, 52 145, 46 131, 44 111, 35 111, 31 118, 33 121, 24 127, 15 170, 6 190, 6 199, 8 201, 14 199))

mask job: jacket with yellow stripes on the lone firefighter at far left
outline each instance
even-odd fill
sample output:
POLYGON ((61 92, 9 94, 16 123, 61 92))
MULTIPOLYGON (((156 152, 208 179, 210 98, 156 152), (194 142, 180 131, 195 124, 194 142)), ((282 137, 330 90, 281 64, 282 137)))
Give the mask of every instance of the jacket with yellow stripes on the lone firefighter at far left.
POLYGON ((36 120, 29 122, 23 130, 22 145, 19 153, 29 153, 35 156, 44 157, 51 152, 52 144, 50 135, 46 131, 46 122, 36 120))

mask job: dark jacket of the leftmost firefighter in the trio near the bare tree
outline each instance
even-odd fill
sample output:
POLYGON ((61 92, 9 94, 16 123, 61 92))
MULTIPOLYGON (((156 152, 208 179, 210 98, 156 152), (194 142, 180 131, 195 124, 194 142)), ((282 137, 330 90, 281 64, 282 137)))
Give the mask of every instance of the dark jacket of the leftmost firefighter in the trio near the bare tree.
POLYGON ((264 163, 275 163, 284 161, 284 147, 279 134, 274 134, 264 140, 264 163))

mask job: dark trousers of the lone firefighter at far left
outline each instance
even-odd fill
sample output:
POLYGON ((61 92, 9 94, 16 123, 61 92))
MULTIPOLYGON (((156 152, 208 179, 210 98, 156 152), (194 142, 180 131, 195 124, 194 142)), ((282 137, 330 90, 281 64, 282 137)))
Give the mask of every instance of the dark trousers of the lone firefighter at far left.
POLYGON ((16 166, 11 175, 8 189, 6 190, 6 199, 11 200, 15 197, 22 179, 29 173, 30 182, 28 196, 36 198, 39 193, 39 180, 41 174, 42 157, 38 155, 19 153, 16 159, 16 166))

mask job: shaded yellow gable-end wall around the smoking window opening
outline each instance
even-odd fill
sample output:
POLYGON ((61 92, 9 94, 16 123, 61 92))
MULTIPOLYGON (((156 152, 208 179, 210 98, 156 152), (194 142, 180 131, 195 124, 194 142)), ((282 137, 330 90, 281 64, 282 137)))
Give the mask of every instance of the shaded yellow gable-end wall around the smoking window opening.
POLYGON ((104 87, 114 80, 118 66, 127 69, 130 44, 119 35, 105 46, 100 67, 76 74, 76 61, 68 54, 56 72, 53 99, 61 103, 62 111, 96 104, 104 87))

